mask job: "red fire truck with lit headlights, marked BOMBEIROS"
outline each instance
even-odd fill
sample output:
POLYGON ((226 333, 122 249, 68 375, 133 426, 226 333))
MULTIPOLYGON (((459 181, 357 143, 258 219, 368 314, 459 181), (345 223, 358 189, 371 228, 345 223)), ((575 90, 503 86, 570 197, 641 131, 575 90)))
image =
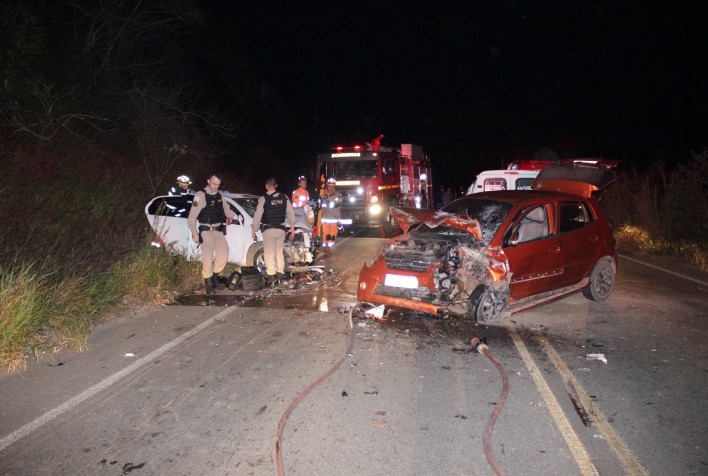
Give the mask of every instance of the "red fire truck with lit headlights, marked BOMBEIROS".
POLYGON ((433 208, 430 159, 418 145, 335 147, 317 156, 316 170, 318 192, 327 179, 336 180, 342 224, 383 225, 392 232, 391 206, 433 208))

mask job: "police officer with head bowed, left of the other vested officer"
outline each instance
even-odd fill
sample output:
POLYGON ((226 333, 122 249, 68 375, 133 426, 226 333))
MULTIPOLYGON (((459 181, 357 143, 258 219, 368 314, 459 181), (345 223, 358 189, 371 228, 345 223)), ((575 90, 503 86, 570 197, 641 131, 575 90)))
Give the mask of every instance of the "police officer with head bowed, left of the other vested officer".
POLYGON ((202 244, 202 277, 208 296, 214 294, 215 289, 224 289, 218 275, 229 259, 226 227, 235 217, 229 204, 219 192, 220 186, 219 175, 211 174, 204 190, 194 195, 192 209, 187 218, 192 239, 195 243, 202 244))

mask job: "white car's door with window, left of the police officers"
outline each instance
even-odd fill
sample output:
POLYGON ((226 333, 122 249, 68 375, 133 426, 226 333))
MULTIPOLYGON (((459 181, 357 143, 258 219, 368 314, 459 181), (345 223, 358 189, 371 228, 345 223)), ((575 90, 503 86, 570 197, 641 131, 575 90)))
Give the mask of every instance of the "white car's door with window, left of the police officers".
POLYGON ((192 240, 187 216, 192 209, 192 195, 156 197, 145 206, 150 226, 164 246, 188 259, 201 256, 201 249, 192 240))

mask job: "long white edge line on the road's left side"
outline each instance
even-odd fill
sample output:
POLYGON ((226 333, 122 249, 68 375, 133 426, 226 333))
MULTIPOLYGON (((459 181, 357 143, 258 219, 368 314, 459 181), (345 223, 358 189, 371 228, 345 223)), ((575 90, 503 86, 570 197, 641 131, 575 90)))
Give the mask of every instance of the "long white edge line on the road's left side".
POLYGON ((142 357, 142 358, 136 360, 135 362, 133 362, 131 365, 127 366, 123 370, 119 370, 118 372, 114 373, 113 375, 101 380, 96 385, 88 388, 87 390, 84 390, 79 395, 77 395, 74 398, 72 398, 71 400, 59 405, 58 407, 54 408, 53 410, 49 410, 47 413, 38 417, 34 421, 26 424, 22 428, 19 428, 19 429, 13 431, 9 435, 5 436, 2 440, 0 440, 0 451, 4 450, 8 446, 10 446, 12 443, 19 440, 20 438, 24 438, 25 436, 29 435, 34 430, 49 423, 50 421, 52 421, 53 419, 55 419, 56 417, 58 417, 62 413, 65 413, 65 412, 71 410, 76 405, 79 405, 80 403, 84 402, 85 400, 93 397, 101 390, 104 390, 104 389, 110 387, 111 385, 113 385, 118 380, 122 379, 123 377, 135 372, 143 365, 155 360, 160 355, 164 354, 168 350, 170 350, 170 349, 174 348, 175 346, 181 344, 182 342, 186 341, 187 339, 189 339, 193 335, 201 332, 203 329, 209 327, 214 322, 223 318, 227 314, 233 312, 235 309, 236 309, 235 307, 229 307, 228 309, 224 309, 219 314, 212 316, 211 318, 209 318, 206 321, 199 324, 194 329, 191 329, 191 330, 185 332, 184 334, 177 337, 173 341, 168 342, 167 344, 163 345, 162 347, 160 347, 157 350, 154 350, 153 352, 146 355, 145 357, 142 357))

